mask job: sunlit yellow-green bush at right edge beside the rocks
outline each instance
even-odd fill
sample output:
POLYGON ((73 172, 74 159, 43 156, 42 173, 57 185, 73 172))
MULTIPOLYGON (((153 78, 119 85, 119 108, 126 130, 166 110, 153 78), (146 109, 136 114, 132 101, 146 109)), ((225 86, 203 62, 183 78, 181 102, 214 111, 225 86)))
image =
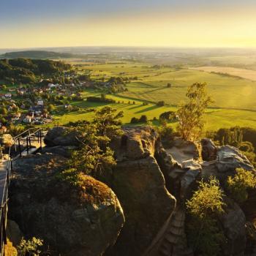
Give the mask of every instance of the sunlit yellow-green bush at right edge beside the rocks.
POLYGON ((248 189, 255 189, 255 186, 255 175, 243 168, 237 168, 236 175, 227 178, 227 190, 238 203, 244 203, 248 198, 248 189))

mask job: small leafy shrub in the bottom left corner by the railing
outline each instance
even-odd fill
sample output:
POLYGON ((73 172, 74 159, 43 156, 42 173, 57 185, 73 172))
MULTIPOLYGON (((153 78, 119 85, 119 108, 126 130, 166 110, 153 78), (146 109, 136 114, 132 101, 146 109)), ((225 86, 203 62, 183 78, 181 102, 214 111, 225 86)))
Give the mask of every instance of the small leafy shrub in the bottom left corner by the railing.
POLYGON ((26 241, 22 239, 20 244, 18 245, 18 255, 19 256, 39 256, 41 251, 39 247, 42 246, 43 241, 38 238, 31 238, 30 240, 26 241))

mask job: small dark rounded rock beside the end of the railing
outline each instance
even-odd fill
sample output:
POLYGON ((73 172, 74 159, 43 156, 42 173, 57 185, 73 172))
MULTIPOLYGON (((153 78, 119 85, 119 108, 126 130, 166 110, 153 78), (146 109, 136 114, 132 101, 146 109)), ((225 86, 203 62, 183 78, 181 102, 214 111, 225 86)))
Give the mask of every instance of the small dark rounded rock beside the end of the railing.
POLYGON ((76 132, 68 132, 66 127, 54 127, 45 135, 46 146, 78 146, 76 132))

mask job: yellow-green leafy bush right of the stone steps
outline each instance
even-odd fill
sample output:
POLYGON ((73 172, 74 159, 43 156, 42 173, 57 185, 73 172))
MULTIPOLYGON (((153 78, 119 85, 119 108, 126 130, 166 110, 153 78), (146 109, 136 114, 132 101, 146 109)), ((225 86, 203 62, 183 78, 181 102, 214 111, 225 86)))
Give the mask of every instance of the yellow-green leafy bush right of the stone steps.
POLYGON ((222 214, 223 192, 219 181, 211 177, 208 182, 200 181, 197 191, 187 201, 189 221, 187 236, 197 255, 219 255, 225 236, 217 217, 222 214))

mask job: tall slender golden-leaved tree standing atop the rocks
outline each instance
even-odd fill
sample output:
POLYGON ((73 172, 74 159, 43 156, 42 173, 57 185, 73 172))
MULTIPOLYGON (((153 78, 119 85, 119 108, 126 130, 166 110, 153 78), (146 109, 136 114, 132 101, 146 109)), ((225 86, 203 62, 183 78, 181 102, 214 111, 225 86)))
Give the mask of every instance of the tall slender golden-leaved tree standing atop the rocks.
POLYGON ((184 140, 196 140, 204 127, 203 114, 212 102, 206 93, 206 83, 194 83, 186 94, 189 99, 178 109, 177 131, 184 140))

